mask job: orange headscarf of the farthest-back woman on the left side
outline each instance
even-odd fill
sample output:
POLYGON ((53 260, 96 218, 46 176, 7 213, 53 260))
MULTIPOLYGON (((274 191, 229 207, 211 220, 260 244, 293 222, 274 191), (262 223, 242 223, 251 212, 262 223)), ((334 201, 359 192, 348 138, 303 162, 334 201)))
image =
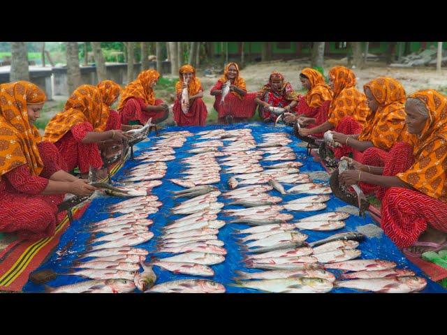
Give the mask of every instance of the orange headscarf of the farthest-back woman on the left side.
POLYGON ((140 73, 137 79, 133 80, 126 86, 119 101, 118 110, 124 107, 126 101, 130 98, 140 98, 147 103, 147 105, 155 104, 154 90, 149 87, 149 84, 158 80, 160 73, 156 70, 144 70, 140 73))

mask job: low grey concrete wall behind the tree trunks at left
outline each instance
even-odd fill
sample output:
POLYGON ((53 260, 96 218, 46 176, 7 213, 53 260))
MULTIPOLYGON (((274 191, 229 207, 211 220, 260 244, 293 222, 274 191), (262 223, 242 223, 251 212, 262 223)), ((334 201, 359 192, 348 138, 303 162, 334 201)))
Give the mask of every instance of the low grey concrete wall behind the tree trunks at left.
MULTIPOLYGON (((149 63, 150 68, 156 68, 156 62, 149 63)), ((113 80, 117 84, 126 85, 129 83, 127 80, 127 64, 108 64, 106 66, 107 77, 109 80, 113 80)), ((138 73, 141 72, 141 64, 133 64, 133 73, 135 78, 138 73)), ((67 68, 53 68, 53 80, 54 80, 54 95, 55 96, 68 96, 67 85, 67 68)), ((162 74, 170 73, 170 62, 163 61, 162 74)), ((96 75, 95 66, 82 66, 81 67, 81 82, 82 84, 96 85, 98 84, 98 76, 96 75)))

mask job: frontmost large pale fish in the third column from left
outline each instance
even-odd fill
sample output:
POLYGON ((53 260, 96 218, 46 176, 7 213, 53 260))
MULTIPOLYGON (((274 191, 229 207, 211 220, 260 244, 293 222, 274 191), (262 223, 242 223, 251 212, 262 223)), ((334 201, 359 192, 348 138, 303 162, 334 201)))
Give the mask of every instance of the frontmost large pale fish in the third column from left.
POLYGON ((253 288, 274 293, 325 293, 332 290, 333 284, 321 278, 281 278, 260 281, 236 281, 228 284, 238 288, 253 288))

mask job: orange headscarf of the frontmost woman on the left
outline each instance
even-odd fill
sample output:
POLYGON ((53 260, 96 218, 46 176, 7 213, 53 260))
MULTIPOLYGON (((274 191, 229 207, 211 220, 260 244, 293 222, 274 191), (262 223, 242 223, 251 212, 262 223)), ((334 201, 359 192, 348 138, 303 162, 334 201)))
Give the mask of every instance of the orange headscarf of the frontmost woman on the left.
POLYGON ((0 179, 22 164, 28 164, 31 174, 41 174, 43 163, 36 145, 41 136, 29 123, 27 105, 45 101, 45 93, 31 82, 0 85, 0 179))

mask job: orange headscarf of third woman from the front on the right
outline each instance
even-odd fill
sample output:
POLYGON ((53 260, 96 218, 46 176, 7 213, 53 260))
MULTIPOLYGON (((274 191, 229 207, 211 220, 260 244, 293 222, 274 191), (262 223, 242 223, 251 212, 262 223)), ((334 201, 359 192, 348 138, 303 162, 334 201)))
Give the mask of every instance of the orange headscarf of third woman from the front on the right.
POLYGON ((335 127, 344 117, 353 117, 362 126, 370 113, 365 94, 356 89, 356 75, 344 66, 329 71, 334 82, 334 98, 329 106, 328 121, 335 127))

